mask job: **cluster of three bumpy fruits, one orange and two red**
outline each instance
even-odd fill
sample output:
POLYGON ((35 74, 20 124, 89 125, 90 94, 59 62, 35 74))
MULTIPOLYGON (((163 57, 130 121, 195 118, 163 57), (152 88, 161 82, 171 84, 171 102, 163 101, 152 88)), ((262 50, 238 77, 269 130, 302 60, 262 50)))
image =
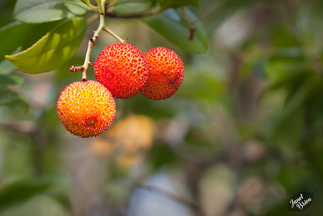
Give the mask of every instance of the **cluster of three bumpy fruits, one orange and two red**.
POLYGON ((140 92, 164 100, 174 95, 184 79, 184 64, 167 48, 156 47, 142 55, 138 48, 119 42, 98 55, 94 73, 97 81, 71 83, 57 102, 65 128, 82 138, 100 135, 109 127, 116 114, 114 97, 126 99, 140 92))

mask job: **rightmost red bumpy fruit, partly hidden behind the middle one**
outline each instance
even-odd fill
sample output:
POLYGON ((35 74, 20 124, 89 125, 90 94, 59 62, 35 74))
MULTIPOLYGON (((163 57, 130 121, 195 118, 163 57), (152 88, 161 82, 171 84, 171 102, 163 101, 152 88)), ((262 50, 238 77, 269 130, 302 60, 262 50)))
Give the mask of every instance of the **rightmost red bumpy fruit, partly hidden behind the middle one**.
POLYGON ((174 95, 184 80, 182 59, 164 47, 153 48, 143 56, 148 64, 148 79, 140 93, 153 100, 174 95))

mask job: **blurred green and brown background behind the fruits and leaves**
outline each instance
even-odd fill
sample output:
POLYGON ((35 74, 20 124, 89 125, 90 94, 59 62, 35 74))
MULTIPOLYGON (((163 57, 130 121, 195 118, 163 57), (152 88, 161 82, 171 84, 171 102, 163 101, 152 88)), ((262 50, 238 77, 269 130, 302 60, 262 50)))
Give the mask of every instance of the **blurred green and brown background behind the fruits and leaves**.
MULTIPOLYGON (((294 215, 290 198, 316 189, 298 214, 323 212, 323 1, 189 9, 206 29, 206 54, 180 50, 140 19, 106 18, 142 53, 174 50, 185 77, 167 100, 116 99, 101 136, 71 135, 56 110, 82 79, 69 66, 83 64, 98 21, 61 69, 14 72, 20 84, 0 98, 0 215, 294 215)), ((114 42, 101 32, 91 61, 114 42)), ((15 70, 7 60, 0 68, 15 70)))

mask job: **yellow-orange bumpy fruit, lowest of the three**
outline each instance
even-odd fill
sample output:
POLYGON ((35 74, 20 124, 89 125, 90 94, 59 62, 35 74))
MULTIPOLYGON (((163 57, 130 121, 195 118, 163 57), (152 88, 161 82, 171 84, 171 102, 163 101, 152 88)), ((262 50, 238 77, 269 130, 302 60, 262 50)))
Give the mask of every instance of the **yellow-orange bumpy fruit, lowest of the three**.
POLYGON ((57 112, 71 134, 95 137, 113 121, 116 102, 109 90, 97 81, 73 82, 59 97, 57 112))

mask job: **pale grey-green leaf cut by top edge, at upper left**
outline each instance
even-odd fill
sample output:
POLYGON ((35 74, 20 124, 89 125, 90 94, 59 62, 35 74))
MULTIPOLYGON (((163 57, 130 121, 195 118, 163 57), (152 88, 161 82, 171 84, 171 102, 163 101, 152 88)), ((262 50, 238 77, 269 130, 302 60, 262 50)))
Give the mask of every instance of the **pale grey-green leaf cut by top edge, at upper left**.
POLYGON ((18 0, 14 18, 27 23, 42 23, 81 16, 89 9, 73 0, 18 0))

